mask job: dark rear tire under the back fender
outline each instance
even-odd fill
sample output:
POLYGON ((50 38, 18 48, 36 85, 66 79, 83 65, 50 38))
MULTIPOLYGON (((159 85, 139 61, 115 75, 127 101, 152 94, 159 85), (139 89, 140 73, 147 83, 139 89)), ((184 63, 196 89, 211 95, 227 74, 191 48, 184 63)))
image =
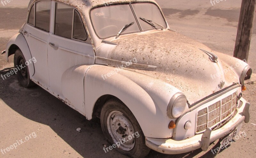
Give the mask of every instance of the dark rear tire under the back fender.
POLYGON ((35 83, 30 80, 28 66, 25 65, 26 60, 20 49, 15 51, 13 60, 14 68, 18 69, 17 76, 20 85, 26 88, 35 86, 35 83))

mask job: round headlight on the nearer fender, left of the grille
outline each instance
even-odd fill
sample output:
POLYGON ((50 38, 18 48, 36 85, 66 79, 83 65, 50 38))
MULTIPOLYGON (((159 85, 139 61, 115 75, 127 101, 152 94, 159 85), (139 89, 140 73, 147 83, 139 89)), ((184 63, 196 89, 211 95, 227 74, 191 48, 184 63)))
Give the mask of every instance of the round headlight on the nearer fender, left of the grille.
POLYGON ((178 118, 184 112, 187 105, 187 98, 181 92, 174 94, 167 107, 169 118, 178 118))

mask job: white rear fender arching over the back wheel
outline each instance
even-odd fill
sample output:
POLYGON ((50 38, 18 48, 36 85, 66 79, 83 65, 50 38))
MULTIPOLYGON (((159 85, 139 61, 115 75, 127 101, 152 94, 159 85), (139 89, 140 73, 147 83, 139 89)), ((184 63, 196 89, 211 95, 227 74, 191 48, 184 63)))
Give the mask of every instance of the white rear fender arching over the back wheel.
MULTIPOLYGON (((20 50, 22 51, 25 60, 28 61, 29 59, 32 59, 30 50, 28 48, 28 43, 25 39, 25 37, 21 34, 18 33, 14 36, 12 36, 12 38, 8 41, 7 45, 6 45, 6 60, 8 60, 8 57, 12 54, 9 54, 9 50, 11 48, 11 46, 16 45, 20 48, 20 50)), ((35 74, 35 68, 34 68, 34 63, 32 62, 31 64, 28 64, 28 70, 29 70, 29 74, 30 77, 33 76, 35 74)))

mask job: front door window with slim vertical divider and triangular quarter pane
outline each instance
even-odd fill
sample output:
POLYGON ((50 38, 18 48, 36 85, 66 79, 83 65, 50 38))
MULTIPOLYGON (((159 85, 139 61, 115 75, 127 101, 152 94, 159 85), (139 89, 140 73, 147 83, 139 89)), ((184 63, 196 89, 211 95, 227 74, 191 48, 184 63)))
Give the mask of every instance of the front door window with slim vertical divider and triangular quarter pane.
POLYGON ((86 41, 87 33, 79 13, 71 6, 56 3, 54 35, 86 41))

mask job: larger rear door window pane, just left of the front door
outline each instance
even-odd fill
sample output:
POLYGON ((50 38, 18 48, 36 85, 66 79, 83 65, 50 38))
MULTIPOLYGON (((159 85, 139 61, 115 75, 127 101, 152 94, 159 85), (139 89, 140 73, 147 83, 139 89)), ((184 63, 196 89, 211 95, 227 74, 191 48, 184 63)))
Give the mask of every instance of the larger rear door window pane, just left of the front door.
POLYGON ((43 31, 50 31, 51 1, 36 2, 35 27, 43 31))

